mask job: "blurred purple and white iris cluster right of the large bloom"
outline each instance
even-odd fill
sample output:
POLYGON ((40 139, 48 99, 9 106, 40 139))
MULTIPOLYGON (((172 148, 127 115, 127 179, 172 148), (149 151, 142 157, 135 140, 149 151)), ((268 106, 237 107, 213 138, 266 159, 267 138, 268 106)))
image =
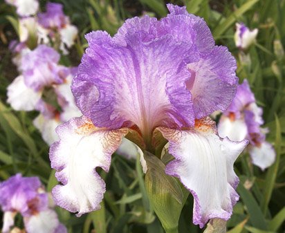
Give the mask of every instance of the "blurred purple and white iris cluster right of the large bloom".
POLYGON ((262 109, 255 102, 255 95, 250 90, 247 80, 237 87, 237 95, 232 104, 219 120, 219 136, 230 140, 241 141, 247 138, 250 142, 248 151, 252 163, 262 170, 270 167, 275 161, 275 150, 266 142, 268 129, 261 128, 264 124, 262 109))

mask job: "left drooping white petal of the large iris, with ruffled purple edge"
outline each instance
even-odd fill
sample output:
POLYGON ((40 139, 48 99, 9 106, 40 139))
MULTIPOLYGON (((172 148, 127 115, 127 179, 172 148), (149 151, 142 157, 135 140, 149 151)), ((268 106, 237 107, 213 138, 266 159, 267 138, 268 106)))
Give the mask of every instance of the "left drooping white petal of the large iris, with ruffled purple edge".
POLYGON ((55 203, 78 212, 77 216, 100 209, 105 183, 95 168, 109 171, 111 155, 128 129, 99 129, 83 116, 69 120, 56 131, 60 141, 50 147, 50 161, 63 185, 53 189, 55 203))

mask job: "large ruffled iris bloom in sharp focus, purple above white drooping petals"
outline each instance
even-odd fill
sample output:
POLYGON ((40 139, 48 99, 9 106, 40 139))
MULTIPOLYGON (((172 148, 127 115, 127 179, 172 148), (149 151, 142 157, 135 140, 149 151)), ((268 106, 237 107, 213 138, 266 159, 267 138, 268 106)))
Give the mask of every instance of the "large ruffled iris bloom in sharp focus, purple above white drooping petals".
POLYGON ((219 138, 207 118, 235 96, 235 59, 214 46, 203 19, 167 7, 170 14, 160 21, 128 19, 114 37, 86 35, 89 48, 71 87, 83 116, 59 126, 60 140, 50 148, 63 184, 53 189, 55 201, 78 216, 100 209, 105 183, 95 168, 109 171, 124 137, 151 153, 169 142, 174 159, 165 172, 194 196, 200 227, 210 218, 230 218, 238 200, 233 163, 247 142, 219 138))

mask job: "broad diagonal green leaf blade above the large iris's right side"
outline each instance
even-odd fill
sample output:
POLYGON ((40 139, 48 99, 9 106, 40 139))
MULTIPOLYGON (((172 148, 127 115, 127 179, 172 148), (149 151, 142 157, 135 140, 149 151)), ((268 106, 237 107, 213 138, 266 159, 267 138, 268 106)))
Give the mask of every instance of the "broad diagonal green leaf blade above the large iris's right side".
POLYGON ((252 6, 254 6, 255 3, 257 3, 258 1, 259 0, 246 1, 246 3, 244 3, 240 8, 235 10, 235 12, 232 12, 232 14, 228 18, 226 18, 221 24, 217 26, 217 28, 214 29, 214 38, 223 35, 223 32, 226 32, 226 30, 228 30, 228 28, 230 28, 230 26, 232 26, 232 24, 234 24, 235 21, 239 19, 239 17, 241 17, 245 12, 250 10, 252 6))

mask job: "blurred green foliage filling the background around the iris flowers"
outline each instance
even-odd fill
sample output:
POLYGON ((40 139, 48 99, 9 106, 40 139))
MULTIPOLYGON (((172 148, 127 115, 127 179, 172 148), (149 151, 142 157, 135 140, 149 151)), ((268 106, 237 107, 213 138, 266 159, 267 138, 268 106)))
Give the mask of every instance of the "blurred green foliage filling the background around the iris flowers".
MULTIPOLYGON (((64 12, 80 35, 70 55, 62 56, 65 65, 77 66, 86 48, 84 34, 107 30, 115 34, 129 17, 148 14, 165 17, 165 3, 187 6, 188 12, 203 17, 212 30, 216 44, 228 46, 237 58, 237 76, 248 79, 257 103, 264 108, 267 140, 275 146, 275 164, 261 171, 253 167, 248 154, 239 156, 235 171, 240 178, 237 189, 240 201, 228 221, 230 233, 285 232, 285 1, 284 0, 62 0, 64 12), (258 28, 257 43, 239 53, 233 39, 235 23, 258 28), (246 58, 246 59, 245 59, 246 58)), ((40 1, 44 10, 46 1, 40 1)), ((6 104, 6 87, 17 77, 11 62, 8 43, 17 39, 13 28, 15 11, 0 1, 0 180, 21 172, 39 176, 48 191, 57 183, 50 169, 48 145, 33 127, 35 112, 15 112, 6 104)), ((181 32, 182 33, 182 32, 181 32)), ((102 209, 81 218, 57 207, 60 221, 73 233, 163 233, 163 228, 149 205, 139 161, 113 156, 108 174, 100 171, 107 182, 102 209)), ((203 232, 192 224, 192 196, 183 208, 179 221, 181 233, 203 232)), ((0 214, 1 218, 1 214, 0 214)), ((18 222, 21 225, 21 221, 18 222)), ((0 222, 1 225, 1 222, 0 222)))

